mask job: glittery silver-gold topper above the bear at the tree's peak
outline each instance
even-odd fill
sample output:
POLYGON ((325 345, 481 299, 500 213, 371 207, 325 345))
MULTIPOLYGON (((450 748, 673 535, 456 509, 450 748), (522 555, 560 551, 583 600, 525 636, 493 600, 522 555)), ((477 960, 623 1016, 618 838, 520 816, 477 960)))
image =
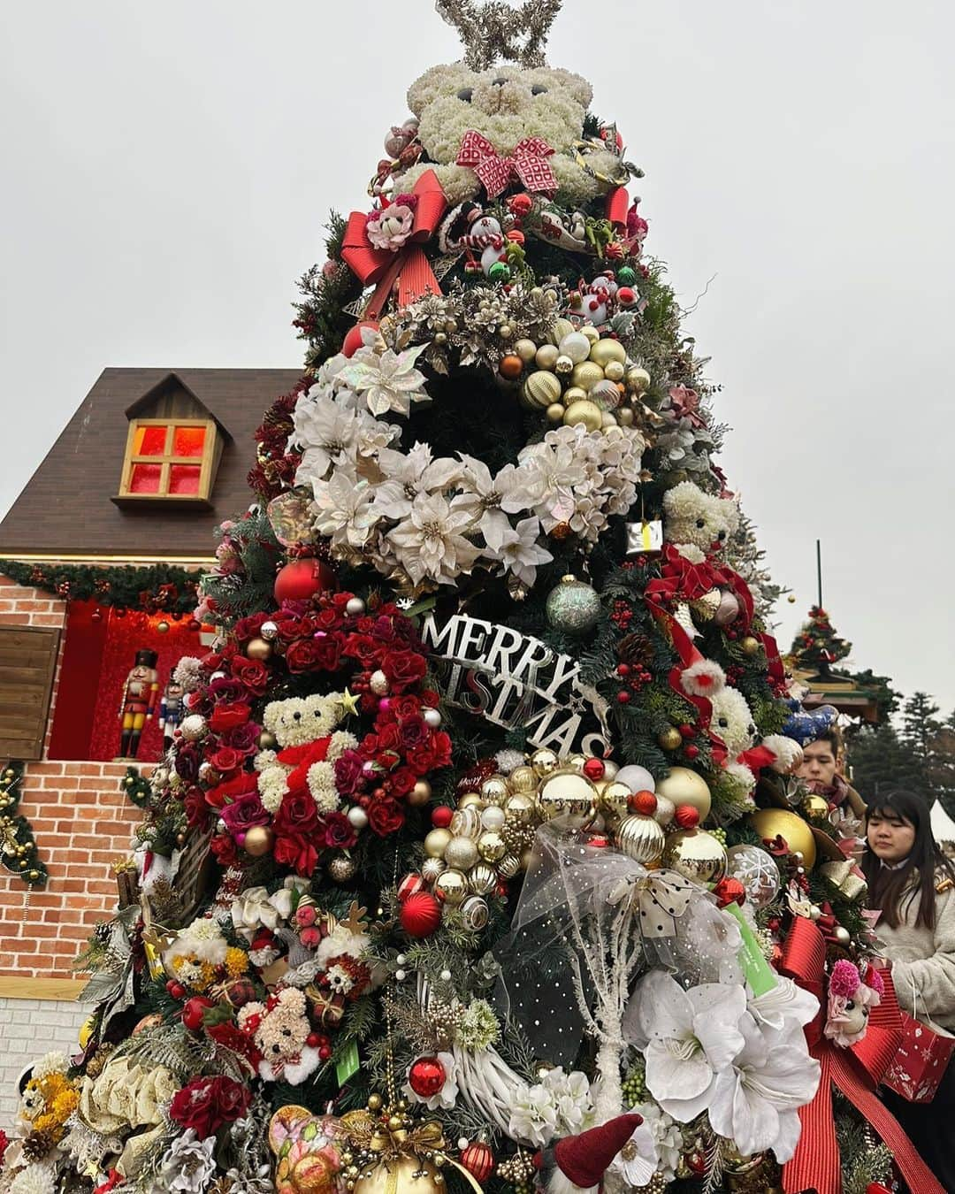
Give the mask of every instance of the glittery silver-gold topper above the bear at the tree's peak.
POLYGON ((542 67, 544 47, 563 0, 525 0, 512 8, 505 0, 437 0, 439 16, 457 30, 464 61, 485 70, 497 61, 542 67))

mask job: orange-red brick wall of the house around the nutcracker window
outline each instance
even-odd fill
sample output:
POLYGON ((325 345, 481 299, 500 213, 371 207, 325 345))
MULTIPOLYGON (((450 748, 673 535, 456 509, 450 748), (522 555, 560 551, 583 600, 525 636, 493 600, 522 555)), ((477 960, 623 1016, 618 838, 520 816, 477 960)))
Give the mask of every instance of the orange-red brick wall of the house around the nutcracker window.
MULTIPOLYGON (((0 576, 0 624, 62 628, 64 621, 66 602, 0 576)), ((56 708, 63 639, 44 755, 56 708)), ((44 888, 30 893, 27 906, 24 885, 0 870, 0 978, 72 978, 73 960, 92 927, 112 913, 116 880, 111 863, 129 854, 141 817, 119 790, 124 774, 123 763, 44 758, 26 764, 20 812, 33 826, 50 879, 44 888)))

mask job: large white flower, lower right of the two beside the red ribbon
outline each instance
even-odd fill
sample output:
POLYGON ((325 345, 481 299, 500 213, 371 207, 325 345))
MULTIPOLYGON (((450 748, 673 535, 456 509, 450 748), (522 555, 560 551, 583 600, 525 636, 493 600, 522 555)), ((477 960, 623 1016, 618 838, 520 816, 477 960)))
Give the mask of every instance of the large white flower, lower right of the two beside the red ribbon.
POLYGON ((809 1057, 797 1026, 782 1033, 760 1030, 747 1013, 740 1030, 744 1046, 732 1065, 716 1076, 709 1121, 715 1132, 734 1140, 744 1156, 772 1149, 784 1164, 799 1140, 796 1113, 819 1085, 819 1063, 809 1057))

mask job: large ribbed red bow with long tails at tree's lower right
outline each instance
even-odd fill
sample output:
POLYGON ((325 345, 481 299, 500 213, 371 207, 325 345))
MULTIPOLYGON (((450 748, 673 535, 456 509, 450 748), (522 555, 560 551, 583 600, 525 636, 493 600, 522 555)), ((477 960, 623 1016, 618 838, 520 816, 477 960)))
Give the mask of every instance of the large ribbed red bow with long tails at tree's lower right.
POLYGON ((802 1132, 793 1159, 783 1167, 785 1194, 801 1194, 806 1189, 814 1189, 817 1194, 842 1192, 832 1083, 889 1146, 910 1189, 919 1194, 944 1194, 899 1121, 875 1094, 902 1036, 899 1004, 889 972, 880 971, 886 990, 880 1005, 873 1008, 865 1035, 851 1048, 839 1048, 822 1036, 825 962, 822 934, 812 921, 796 917, 783 944, 780 970, 820 1002, 819 1015, 806 1026, 806 1041, 822 1073, 815 1097, 799 1112, 802 1132))

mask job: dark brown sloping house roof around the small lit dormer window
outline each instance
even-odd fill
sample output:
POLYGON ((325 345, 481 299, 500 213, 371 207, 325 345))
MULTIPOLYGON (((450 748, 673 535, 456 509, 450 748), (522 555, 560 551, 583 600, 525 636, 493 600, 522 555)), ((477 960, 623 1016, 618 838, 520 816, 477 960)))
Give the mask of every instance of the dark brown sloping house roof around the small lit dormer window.
POLYGON ((248 506, 252 435, 298 369, 104 369, 60 438, 0 523, 0 556, 209 556, 212 528, 248 506), (121 509, 129 418, 153 392, 179 383, 224 432, 211 509, 121 509))

